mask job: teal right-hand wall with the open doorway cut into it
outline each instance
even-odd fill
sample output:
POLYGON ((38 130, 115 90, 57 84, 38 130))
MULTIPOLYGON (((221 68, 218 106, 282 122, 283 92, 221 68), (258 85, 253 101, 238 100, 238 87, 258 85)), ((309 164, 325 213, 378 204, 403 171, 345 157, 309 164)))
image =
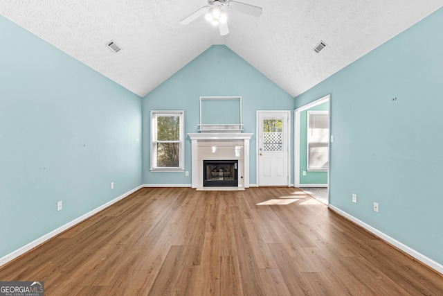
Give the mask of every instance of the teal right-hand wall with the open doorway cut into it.
POLYGON ((295 100, 331 94, 329 202, 440 264, 442 28, 443 8, 295 100))

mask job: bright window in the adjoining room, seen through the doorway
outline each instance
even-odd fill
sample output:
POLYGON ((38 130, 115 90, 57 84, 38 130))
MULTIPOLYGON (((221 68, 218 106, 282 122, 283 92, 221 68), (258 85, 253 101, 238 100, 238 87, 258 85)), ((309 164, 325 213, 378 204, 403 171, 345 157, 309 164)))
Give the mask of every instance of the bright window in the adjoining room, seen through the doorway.
POLYGON ((329 114, 307 112, 307 170, 327 171, 329 166, 329 114))

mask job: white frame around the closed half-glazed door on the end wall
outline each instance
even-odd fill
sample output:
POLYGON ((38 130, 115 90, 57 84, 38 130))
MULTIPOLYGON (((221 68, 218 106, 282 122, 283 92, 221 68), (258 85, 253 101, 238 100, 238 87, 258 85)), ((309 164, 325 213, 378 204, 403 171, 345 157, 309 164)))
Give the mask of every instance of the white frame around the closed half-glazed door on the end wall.
POLYGON ((258 155, 260 153, 259 151, 259 141, 260 141, 260 122, 259 122, 259 114, 260 113, 286 113, 288 116, 288 122, 287 122, 287 157, 288 157, 288 163, 287 163, 287 186, 291 187, 291 110, 257 110, 255 112, 255 180, 257 180, 257 187, 260 186, 260 159, 258 158, 258 155))

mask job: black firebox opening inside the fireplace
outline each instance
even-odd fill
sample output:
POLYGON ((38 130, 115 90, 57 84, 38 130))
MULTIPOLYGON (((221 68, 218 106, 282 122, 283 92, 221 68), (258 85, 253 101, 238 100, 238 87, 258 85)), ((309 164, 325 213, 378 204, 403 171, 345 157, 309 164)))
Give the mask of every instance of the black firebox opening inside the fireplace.
POLYGON ((204 160, 203 186, 238 186, 238 160, 204 160))

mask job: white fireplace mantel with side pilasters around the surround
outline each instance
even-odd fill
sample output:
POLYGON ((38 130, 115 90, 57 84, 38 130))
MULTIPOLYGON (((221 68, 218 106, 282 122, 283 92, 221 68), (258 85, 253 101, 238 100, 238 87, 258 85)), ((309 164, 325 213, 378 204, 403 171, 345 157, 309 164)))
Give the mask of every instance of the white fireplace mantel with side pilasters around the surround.
POLYGON ((243 159, 243 172, 239 171, 239 175, 242 175, 243 182, 242 184, 239 182, 239 187, 248 188, 249 187, 249 158, 250 158, 250 149, 249 149, 249 141, 253 134, 243 133, 243 132, 201 132, 201 133, 193 133, 188 134, 191 139, 191 150, 192 150, 192 168, 191 168, 191 184, 192 188, 201 188, 203 186, 203 173, 201 165, 201 157, 198 155, 198 147, 199 144, 204 143, 205 145, 211 145, 213 142, 214 146, 222 145, 229 146, 230 142, 232 142, 232 146, 237 146, 239 141, 243 146, 243 155, 241 158, 243 159))

